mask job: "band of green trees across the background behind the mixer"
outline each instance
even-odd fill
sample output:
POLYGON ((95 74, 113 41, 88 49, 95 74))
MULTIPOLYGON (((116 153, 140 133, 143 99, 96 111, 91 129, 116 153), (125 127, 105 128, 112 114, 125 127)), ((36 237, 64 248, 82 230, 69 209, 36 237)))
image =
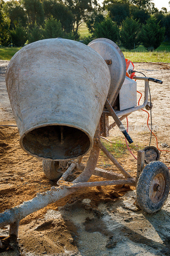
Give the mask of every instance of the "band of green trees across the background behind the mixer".
POLYGON ((62 37, 88 44, 106 37, 131 50, 143 44, 152 51, 170 40, 170 14, 151 0, 0 0, 1 46, 24 46, 62 37), (80 38, 85 23, 90 36, 80 38))

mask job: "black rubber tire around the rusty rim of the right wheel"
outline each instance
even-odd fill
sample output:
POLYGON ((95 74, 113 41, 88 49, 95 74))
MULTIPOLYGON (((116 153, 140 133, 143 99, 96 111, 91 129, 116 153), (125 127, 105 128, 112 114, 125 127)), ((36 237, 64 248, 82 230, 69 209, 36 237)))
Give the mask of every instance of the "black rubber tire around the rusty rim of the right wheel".
POLYGON ((147 213, 158 212, 165 204, 166 199, 169 195, 169 191, 170 172, 167 166, 160 161, 153 161, 150 164, 147 164, 139 176, 136 188, 137 203, 140 208, 147 213), (158 173, 162 173, 164 175, 166 187, 161 200, 158 203, 153 203, 151 198, 149 197, 149 190, 152 180, 158 173))

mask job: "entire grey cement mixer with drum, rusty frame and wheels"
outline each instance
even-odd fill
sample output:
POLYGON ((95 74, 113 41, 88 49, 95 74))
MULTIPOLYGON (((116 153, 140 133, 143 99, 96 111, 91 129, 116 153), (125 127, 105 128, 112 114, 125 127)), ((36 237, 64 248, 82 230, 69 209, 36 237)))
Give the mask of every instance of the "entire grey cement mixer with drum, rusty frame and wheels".
POLYGON ((79 188, 128 184, 136 186, 136 205, 143 211, 157 212, 165 204, 170 173, 159 161, 159 152, 154 151, 156 156, 152 154, 152 161, 144 166, 145 150, 138 151, 134 179, 100 141, 117 125, 126 140, 133 143, 121 121, 149 107, 149 81, 162 83, 150 77, 131 76, 133 65, 127 63, 117 44, 106 38, 95 39, 88 46, 62 38, 40 40, 12 57, 5 79, 21 148, 43 159, 46 176, 58 179, 58 186, 0 215, 0 228, 10 225, 11 239, 17 239, 20 220, 79 188), (144 103, 140 106, 134 80, 145 82, 144 103), (111 125, 109 116, 114 119, 111 125), (96 168, 100 150, 122 174, 96 168), (85 166, 81 161, 88 152, 85 166), (66 181, 75 170, 81 174, 72 182, 66 181), (91 175, 105 180, 88 182, 91 175))

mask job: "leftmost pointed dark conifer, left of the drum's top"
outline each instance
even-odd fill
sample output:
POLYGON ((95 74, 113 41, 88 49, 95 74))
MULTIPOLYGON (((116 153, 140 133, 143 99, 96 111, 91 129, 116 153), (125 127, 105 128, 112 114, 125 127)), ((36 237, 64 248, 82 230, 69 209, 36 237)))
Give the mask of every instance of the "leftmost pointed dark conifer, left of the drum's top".
POLYGON ((13 28, 11 31, 11 40, 13 46, 24 46, 27 40, 27 33, 26 30, 22 27, 21 22, 18 22, 18 25, 13 28))

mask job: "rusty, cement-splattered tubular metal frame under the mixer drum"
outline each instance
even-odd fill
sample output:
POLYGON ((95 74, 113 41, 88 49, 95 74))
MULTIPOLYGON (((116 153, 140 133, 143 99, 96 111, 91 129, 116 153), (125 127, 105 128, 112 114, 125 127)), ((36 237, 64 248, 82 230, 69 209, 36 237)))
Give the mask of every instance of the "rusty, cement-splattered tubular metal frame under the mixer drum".
MULTIPOLYGON (((82 158, 78 159, 77 163, 73 162, 63 173, 58 181, 59 187, 52 187, 50 190, 37 193, 37 195, 22 204, 8 209, 0 214, 0 228, 10 225, 10 239, 17 241, 19 222, 29 214, 36 212, 48 204, 52 204, 61 198, 74 193, 80 188, 95 187, 95 186, 111 186, 116 184, 129 184, 135 186, 135 179, 128 174, 117 160, 109 153, 100 141, 100 126, 98 125, 94 137, 94 146, 90 151, 89 160, 85 165, 81 164, 82 158), (100 149, 106 154, 112 163, 122 172, 123 175, 114 172, 96 168, 100 149), (72 173, 73 169, 81 170, 82 173, 72 182, 65 181, 72 173), (97 175, 111 180, 87 182, 91 175, 97 175)), ((0 241, 0 248, 3 245, 0 241)))

